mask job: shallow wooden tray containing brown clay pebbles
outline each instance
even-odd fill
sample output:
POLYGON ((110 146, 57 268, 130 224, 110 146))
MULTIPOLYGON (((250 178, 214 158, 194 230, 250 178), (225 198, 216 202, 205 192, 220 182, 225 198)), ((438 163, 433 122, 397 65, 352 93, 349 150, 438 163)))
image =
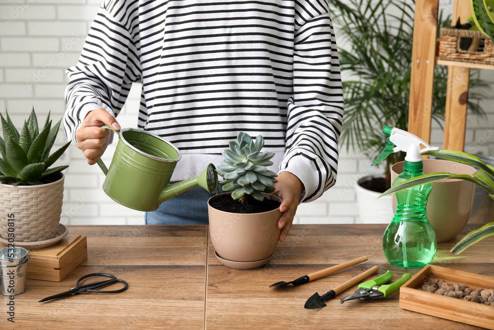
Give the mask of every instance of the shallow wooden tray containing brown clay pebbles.
POLYGON ((472 326, 494 329, 494 307, 447 297, 418 288, 427 278, 466 284, 472 289, 494 289, 494 278, 427 265, 400 288, 400 307, 472 326))

